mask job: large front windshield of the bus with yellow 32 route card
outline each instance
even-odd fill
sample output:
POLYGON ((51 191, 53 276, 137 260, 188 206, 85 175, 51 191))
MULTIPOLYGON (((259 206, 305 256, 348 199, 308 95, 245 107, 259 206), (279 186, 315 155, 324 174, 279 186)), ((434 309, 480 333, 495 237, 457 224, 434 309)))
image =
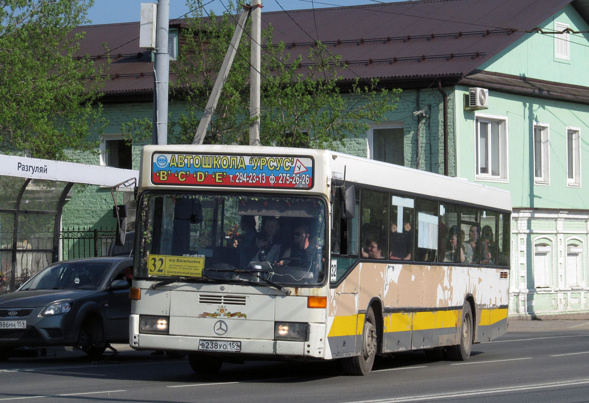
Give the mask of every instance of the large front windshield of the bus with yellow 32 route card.
POLYGON ((283 286, 325 280, 321 198, 145 192, 139 208, 139 279, 283 286))

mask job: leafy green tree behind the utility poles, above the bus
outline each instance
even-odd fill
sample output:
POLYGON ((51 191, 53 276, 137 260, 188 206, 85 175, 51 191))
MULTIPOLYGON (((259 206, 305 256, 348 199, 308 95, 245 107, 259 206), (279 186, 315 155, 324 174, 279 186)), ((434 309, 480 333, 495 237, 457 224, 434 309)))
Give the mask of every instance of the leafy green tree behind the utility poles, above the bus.
MULTIPOLYGON (((198 4, 189 6, 197 12, 181 31, 184 44, 170 67, 177 77, 173 94, 186 103, 186 113, 170 121, 170 143, 192 142, 241 10, 232 4, 230 12, 220 17, 211 13, 203 18, 198 4)), ((398 91, 381 90, 376 80, 362 84, 356 80, 342 93, 338 82, 346 66, 325 45, 317 42, 302 54, 291 54, 284 42, 273 43, 272 34, 272 27, 262 33, 262 145, 333 149, 346 137, 365 133, 370 122, 385 120, 385 114, 395 109, 398 91)), ((244 33, 204 143, 249 143, 249 60, 250 37, 244 33)), ((147 122, 130 122, 123 129, 140 137, 140 131, 150 127, 147 122)))

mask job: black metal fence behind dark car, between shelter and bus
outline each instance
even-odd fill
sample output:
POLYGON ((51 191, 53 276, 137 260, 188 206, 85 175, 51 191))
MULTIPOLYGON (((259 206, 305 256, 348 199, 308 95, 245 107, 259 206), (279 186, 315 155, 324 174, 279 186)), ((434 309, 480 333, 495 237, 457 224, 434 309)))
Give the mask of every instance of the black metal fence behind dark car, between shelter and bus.
POLYGON ((59 235, 61 241, 61 260, 80 257, 105 256, 108 247, 114 241, 115 230, 100 230, 90 228, 67 228, 59 235))

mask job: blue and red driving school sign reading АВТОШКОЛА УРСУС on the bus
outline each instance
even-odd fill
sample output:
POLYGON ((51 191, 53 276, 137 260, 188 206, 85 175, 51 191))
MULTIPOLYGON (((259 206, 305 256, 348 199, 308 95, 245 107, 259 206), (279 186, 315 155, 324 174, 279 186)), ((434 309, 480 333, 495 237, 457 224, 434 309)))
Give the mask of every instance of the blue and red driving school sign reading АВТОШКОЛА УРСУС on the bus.
POLYGON ((154 153, 154 185, 254 188, 313 187, 310 156, 154 153))

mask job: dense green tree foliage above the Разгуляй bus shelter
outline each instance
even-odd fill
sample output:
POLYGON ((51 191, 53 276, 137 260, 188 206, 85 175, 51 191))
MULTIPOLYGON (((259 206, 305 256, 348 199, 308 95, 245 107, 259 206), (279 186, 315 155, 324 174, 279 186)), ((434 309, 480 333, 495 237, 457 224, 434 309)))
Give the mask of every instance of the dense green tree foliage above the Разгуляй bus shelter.
POLYGON ((64 149, 95 147, 101 71, 74 57, 84 33, 72 32, 93 0, 1 3, 0 153, 66 159, 64 149))

